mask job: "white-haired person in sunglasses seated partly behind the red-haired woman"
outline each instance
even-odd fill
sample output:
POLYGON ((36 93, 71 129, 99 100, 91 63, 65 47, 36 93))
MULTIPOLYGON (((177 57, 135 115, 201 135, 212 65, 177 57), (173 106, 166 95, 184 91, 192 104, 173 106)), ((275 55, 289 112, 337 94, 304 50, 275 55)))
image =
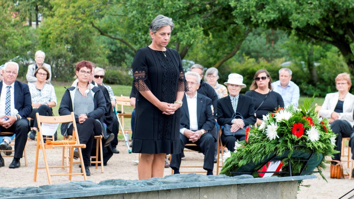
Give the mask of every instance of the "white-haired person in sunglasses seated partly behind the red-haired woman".
MULTIPOLYGON (((101 89, 103 92, 105 101, 106 101, 106 112, 104 113, 104 124, 107 125, 107 134, 110 135, 113 133, 114 138, 110 142, 110 145, 112 147, 112 152, 113 153, 119 153, 119 150, 116 148, 118 144, 118 121, 117 121, 117 116, 115 115, 113 111, 113 107, 115 106, 115 96, 113 94, 112 87, 103 84, 103 77, 104 77, 104 70, 99 67, 95 67, 93 64, 93 68, 95 71, 95 74, 92 73, 93 75, 93 81, 97 84, 97 86, 101 89), (114 99, 114 100, 113 100, 114 99)), ((108 158, 104 155, 105 159, 108 158)), ((109 157, 110 158, 110 157, 109 157)), ((108 158, 108 159, 109 159, 108 158)), ((106 159, 108 161, 108 159, 106 159)), ((105 161, 107 163, 107 161, 105 161)))

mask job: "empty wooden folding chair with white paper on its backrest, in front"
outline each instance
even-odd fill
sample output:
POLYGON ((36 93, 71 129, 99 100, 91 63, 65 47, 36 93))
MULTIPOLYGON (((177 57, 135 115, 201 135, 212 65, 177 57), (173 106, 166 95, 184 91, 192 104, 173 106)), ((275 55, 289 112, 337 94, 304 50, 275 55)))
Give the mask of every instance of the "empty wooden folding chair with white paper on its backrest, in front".
POLYGON ((38 131, 39 139, 37 139, 37 145, 36 145, 36 159, 35 159, 35 166, 34 166, 33 181, 36 182, 36 180, 37 180, 37 170, 38 169, 46 169, 49 184, 52 184, 51 176, 69 176, 69 180, 71 181, 73 175, 82 175, 82 176, 84 176, 84 180, 86 180, 86 172, 84 169, 85 166, 84 166, 84 161, 82 160, 81 150, 79 150, 79 157, 80 157, 82 173, 73 173, 74 148, 86 148, 86 144, 80 144, 78 129, 76 127, 74 113, 72 112, 70 115, 63 115, 63 116, 41 116, 38 113, 36 113, 36 118, 37 118, 37 123, 38 123, 38 127, 39 127, 39 131, 38 131), (53 124, 53 123, 68 123, 68 122, 73 123, 72 140, 76 141, 76 144, 52 145, 52 144, 45 144, 44 143, 43 136, 42 136, 43 131, 42 131, 41 123, 53 124), (61 165, 61 166, 48 166, 46 149, 53 149, 56 147, 70 147, 71 148, 71 150, 70 150, 70 165, 69 166, 63 166, 63 165, 61 165), (44 164, 45 164, 44 167, 38 167, 39 149, 42 149, 42 152, 43 152, 43 158, 44 158, 44 164), (50 174, 49 173, 49 168, 62 168, 62 167, 69 167, 69 173, 68 174, 50 174))

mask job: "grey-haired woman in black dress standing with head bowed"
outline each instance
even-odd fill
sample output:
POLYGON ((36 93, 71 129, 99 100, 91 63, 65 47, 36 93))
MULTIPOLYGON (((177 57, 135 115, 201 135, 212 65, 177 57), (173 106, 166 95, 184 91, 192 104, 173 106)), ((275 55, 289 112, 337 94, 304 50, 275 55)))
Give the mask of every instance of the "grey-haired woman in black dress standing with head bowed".
POLYGON ((166 47, 174 26, 171 18, 157 16, 150 24, 152 43, 137 50, 132 63, 137 93, 132 152, 141 153, 139 180, 163 177, 166 153, 181 151, 179 108, 188 86, 178 52, 166 47))

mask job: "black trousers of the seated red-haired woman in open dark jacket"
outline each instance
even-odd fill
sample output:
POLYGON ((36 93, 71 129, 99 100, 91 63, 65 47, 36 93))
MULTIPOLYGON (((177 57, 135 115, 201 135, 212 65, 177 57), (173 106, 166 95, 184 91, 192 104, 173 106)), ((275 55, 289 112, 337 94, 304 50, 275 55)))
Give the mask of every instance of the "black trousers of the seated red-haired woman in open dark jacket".
MULTIPOLYGON (((99 123, 99 121, 96 121, 93 118, 87 118, 82 124, 76 123, 76 127, 78 128, 80 144, 86 144, 86 148, 81 150, 82 159, 84 161, 84 165, 89 166, 91 163, 90 155, 91 155, 93 140, 95 139, 94 136, 101 135, 102 126, 101 123, 99 123)), ((73 125, 70 125, 68 129, 68 135, 73 135, 73 125)))

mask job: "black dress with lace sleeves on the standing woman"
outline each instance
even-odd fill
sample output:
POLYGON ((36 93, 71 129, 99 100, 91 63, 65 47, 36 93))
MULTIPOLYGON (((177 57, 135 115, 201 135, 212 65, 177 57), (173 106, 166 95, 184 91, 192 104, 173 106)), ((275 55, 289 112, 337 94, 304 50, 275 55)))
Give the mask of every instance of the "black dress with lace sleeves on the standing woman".
POLYGON ((180 153, 180 110, 166 115, 145 99, 139 91, 150 90, 161 102, 173 103, 177 91, 187 91, 181 58, 176 50, 137 50, 134 57, 133 86, 136 93, 133 153, 180 153), (166 56, 165 56, 166 55, 166 56))

